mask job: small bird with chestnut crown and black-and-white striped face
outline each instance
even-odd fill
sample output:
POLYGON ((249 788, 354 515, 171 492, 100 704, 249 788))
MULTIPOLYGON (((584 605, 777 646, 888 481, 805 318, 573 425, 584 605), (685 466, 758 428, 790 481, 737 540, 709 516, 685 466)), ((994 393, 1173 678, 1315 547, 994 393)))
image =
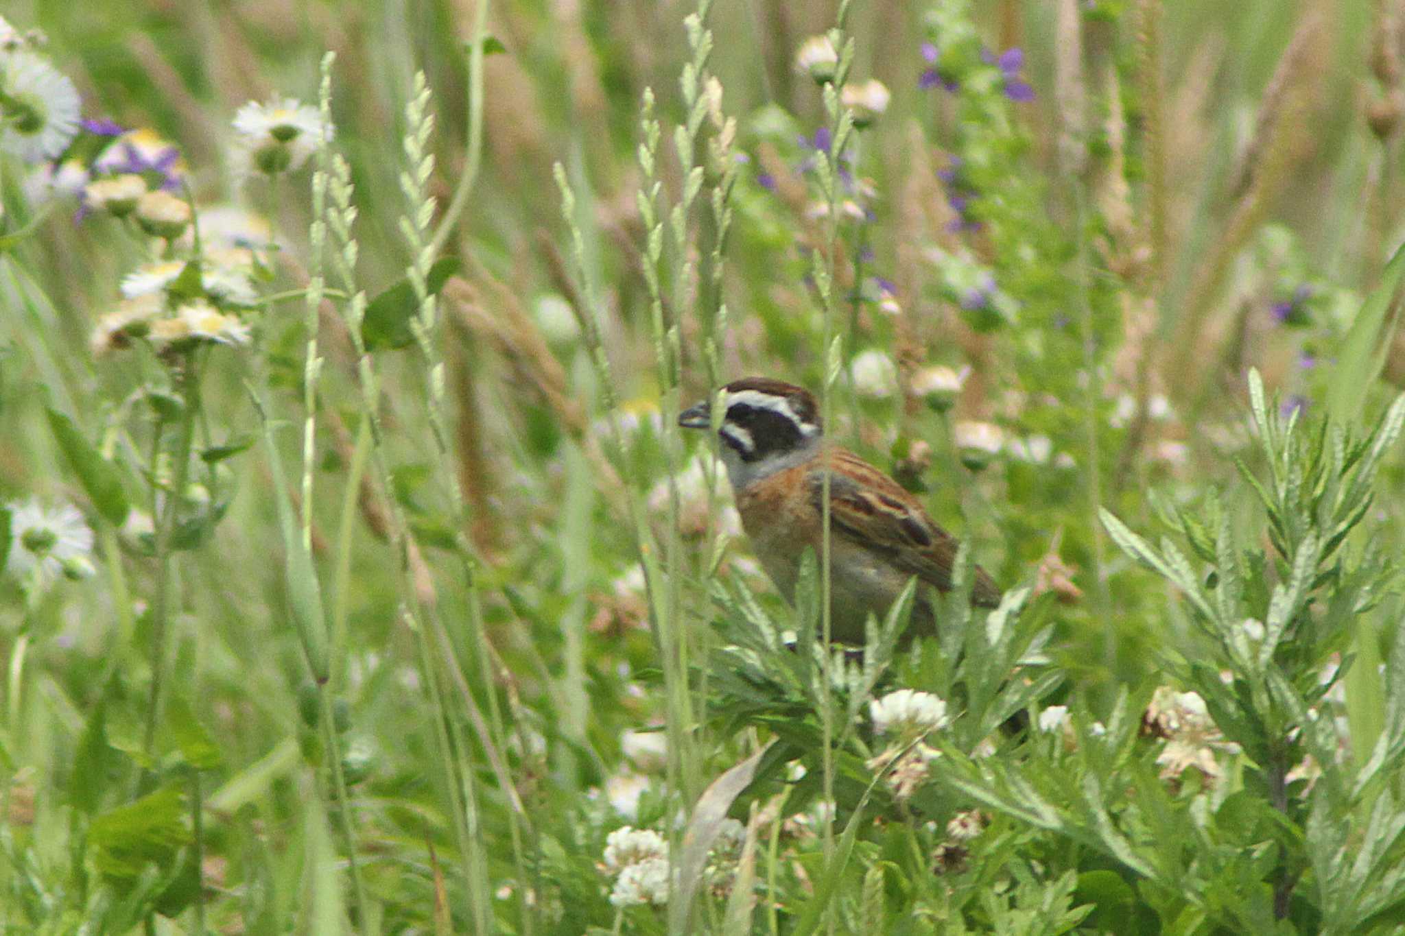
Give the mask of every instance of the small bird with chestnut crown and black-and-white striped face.
MULTIPOLYGON (((919 596, 909 633, 936 633, 922 585, 951 588, 958 542, 932 522, 922 504, 891 477, 839 446, 822 443, 812 393, 783 380, 745 377, 726 385, 718 428, 742 526, 757 559, 794 601, 805 547, 821 556, 823 464, 829 472, 830 620, 836 640, 863 643, 864 620, 880 620, 916 575, 919 596)), ((679 425, 711 428, 711 404, 679 414, 679 425)), ((971 602, 993 608, 1000 589, 974 570, 971 602)))

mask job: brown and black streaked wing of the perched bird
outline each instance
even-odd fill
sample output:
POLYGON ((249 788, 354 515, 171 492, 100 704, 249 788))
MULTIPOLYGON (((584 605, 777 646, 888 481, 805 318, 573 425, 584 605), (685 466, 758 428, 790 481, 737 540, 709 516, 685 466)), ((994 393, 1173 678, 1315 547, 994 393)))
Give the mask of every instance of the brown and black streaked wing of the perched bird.
MULTIPOLYGON (((832 529, 854 543, 881 553, 894 568, 916 575, 940 591, 951 588, 951 567, 960 543, 932 522, 922 504, 891 477, 853 452, 830 453, 835 472, 829 481, 832 529)), ((822 509, 823 476, 808 476, 811 502, 822 509)), ((986 608, 1000 603, 1000 589, 976 567, 971 602, 986 608)))

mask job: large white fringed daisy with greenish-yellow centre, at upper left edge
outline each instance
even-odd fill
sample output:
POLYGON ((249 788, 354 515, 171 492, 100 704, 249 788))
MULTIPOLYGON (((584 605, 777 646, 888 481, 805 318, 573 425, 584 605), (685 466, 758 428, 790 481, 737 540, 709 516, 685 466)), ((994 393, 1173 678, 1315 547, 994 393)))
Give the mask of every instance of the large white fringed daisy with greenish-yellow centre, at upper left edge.
POLYGON ((56 159, 79 132, 73 81, 27 49, 0 59, 0 150, 25 163, 56 159))

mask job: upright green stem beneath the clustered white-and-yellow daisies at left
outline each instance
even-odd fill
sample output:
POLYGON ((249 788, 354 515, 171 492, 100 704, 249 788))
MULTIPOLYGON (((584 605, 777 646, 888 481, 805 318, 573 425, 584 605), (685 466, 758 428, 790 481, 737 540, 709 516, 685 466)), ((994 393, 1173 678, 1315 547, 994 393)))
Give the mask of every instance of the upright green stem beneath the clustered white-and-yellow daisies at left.
MULTIPOLYGON (((177 362, 176 380, 183 408, 176 436, 176 450, 173 452, 171 486, 162 501, 160 521, 156 526, 156 598, 152 603, 152 685, 146 697, 146 731, 142 735, 142 755, 146 766, 142 770, 139 789, 145 787, 150 779, 152 762, 155 759, 156 723, 160 717, 162 683, 166 669, 166 631, 170 622, 171 573, 176 561, 171 543, 176 535, 176 514, 181 495, 185 491, 185 480, 190 474, 190 453, 195 436, 195 413, 200 410, 200 372, 194 352, 184 352, 177 362)), ((156 467, 153 463, 153 472, 156 467)), ((160 481, 153 481, 153 484, 160 484, 160 481)))

